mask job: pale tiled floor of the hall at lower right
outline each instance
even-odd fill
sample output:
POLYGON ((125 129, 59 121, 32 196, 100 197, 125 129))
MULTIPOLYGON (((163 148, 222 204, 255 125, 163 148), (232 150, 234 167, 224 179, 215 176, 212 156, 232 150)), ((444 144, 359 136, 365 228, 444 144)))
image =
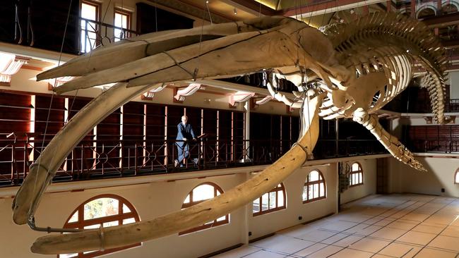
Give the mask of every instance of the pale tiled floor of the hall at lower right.
POLYGON ((459 257, 459 199, 375 195, 218 258, 459 257))

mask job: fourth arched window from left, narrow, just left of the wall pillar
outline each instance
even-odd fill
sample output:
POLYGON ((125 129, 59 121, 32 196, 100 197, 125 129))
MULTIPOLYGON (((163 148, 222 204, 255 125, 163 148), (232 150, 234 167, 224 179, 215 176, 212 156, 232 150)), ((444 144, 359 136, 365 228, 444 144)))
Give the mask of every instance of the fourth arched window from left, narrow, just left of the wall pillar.
POLYGON ((303 203, 326 198, 326 185, 321 171, 309 172, 303 187, 303 203))

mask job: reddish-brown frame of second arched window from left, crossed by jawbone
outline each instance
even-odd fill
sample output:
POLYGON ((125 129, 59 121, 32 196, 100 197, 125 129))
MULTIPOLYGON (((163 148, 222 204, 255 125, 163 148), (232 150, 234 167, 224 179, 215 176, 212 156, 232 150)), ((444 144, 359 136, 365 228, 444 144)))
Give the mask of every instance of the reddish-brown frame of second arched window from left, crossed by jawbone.
MULTIPOLYGON (((201 202, 205 202, 205 201, 208 200, 208 199, 201 199, 199 201, 193 201, 193 190, 195 190, 196 188, 200 187, 201 185, 213 186, 213 197, 214 198, 217 196, 217 191, 220 192, 220 195, 223 194, 222 188, 220 188, 220 186, 217 185, 216 183, 212 183, 212 182, 200 183, 200 184, 196 185, 193 189, 191 189, 191 191, 188 193, 188 195, 186 195, 186 197, 190 196, 189 202, 187 202, 187 203, 182 202, 181 209, 186 209, 186 208, 192 207, 192 206, 194 206, 196 204, 200 204, 201 202)), ((185 197, 185 199, 186 199, 186 197, 185 197)), ((220 219, 220 218, 217 218, 217 219, 220 219)), ((186 235, 186 234, 193 233, 193 232, 196 232, 196 231, 202 231, 202 230, 204 230, 206 228, 213 228, 213 227, 216 227, 216 226, 222 226, 222 225, 228 224, 229 223, 229 214, 226 214, 225 215, 225 219, 222 220, 222 221, 217 221, 217 219, 214 219, 213 223, 205 223, 205 224, 203 224, 201 226, 197 226, 195 228, 190 228, 190 229, 187 229, 186 231, 181 231, 181 232, 179 232, 179 235, 186 235)))

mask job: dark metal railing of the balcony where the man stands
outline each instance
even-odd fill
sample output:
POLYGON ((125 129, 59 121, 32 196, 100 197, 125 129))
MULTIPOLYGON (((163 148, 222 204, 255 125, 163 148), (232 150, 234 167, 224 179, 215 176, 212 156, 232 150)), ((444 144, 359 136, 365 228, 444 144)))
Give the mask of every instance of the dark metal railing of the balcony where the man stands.
MULTIPOLYGON (((43 139, 43 137, 41 137, 43 139)), ((0 140, 0 186, 20 185, 30 164, 49 140, 0 140)), ((272 164, 293 142, 281 140, 216 140, 192 142, 183 167, 174 166, 176 140, 83 140, 59 167, 54 182, 143 176, 234 166, 272 164), (197 161, 196 164, 193 161, 197 161)), ((386 153, 376 140, 319 140, 315 159, 386 153)))

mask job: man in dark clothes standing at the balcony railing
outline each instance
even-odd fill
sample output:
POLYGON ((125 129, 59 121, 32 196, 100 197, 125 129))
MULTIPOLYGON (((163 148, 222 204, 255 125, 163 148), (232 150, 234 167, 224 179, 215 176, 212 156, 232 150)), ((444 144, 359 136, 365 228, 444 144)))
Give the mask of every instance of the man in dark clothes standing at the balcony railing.
MULTIPOLYGON (((181 116, 181 123, 177 125, 177 137, 176 140, 183 140, 183 142, 175 142, 177 145, 177 159, 174 159, 174 166, 183 166, 183 160, 190 156, 189 152, 189 141, 196 141, 196 135, 194 135, 193 128, 188 122, 187 116, 181 116)), ((195 164, 198 164, 198 159, 193 159, 195 164)))

